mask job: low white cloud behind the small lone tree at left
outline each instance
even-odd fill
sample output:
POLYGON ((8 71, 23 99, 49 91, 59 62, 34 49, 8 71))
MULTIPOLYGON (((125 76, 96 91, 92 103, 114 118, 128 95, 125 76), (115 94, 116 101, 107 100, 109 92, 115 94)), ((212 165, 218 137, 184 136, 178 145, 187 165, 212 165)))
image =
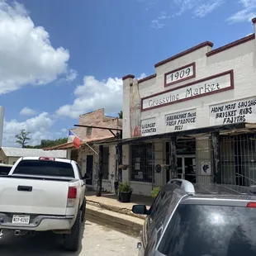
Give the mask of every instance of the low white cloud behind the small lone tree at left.
POLYGON ((26 121, 4 121, 2 145, 17 147, 15 135, 19 134, 22 129, 31 132, 28 141, 29 145, 39 145, 41 140, 53 139, 50 133, 50 127, 54 125, 54 120, 51 116, 42 112, 40 115, 27 119, 26 121))

